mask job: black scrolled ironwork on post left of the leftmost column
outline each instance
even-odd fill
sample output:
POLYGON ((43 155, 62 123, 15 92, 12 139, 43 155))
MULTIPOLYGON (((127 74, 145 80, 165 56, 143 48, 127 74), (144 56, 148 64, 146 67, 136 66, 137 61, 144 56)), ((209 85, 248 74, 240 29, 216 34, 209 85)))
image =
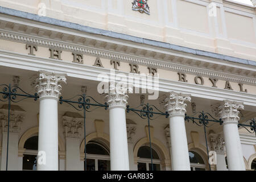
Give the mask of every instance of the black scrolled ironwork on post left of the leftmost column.
POLYGON ((38 100, 39 96, 37 93, 34 95, 28 94, 24 92, 19 86, 11 86, 11 84, 1 84, 0 85, 0 101, 7 102, 8 101, 8 121, 7 121, 7 149, 6 149, 6 171, 8 170, 8 153, 9 153, 9 129, 10 129, 10 109, 11 102, 18 103, 27 98, 34 98, 34 100, 38 100), (20 92, 20 93, 19 93, 20 92), (20 98, 20 99, 18 99, 20 98))

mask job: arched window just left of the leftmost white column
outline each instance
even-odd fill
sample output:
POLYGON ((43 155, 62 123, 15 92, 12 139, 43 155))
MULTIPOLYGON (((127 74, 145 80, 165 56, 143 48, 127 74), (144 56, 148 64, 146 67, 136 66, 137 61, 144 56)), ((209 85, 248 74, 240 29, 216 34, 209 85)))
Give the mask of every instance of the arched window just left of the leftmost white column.
POLYGON ((26 148, 23 155, 22 169, 36 170, 36 155, 38 154, 38 136, 30 137, 24 143, 26 148))

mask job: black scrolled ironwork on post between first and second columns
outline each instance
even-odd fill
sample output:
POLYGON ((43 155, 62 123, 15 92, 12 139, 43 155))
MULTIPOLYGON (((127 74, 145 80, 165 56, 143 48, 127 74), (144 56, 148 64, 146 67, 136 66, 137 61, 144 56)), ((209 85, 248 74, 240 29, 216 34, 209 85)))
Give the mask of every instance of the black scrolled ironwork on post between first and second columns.
POLYGON ((100 104, 100 102, 97 102, 94 100, 93 97, 86 96, 85 94, 77 95, 75 97, 72 97, 68 100, 64 100, 61 96, 59 99, 60 104, 63 104, 63 102, 71 105, 74 109, 79 111, 84 111, 84 170, 86 171, 86 132, 85 132, 85 120, 86 120, 86 112, 91 112, 99 107, 105 107, 105 110, 108 109, 109 105, 105 102, 105 104, 100 104), (92 103, 91 103, 92 101, 92 103), (75 105, 76 104, 76 105, 75 105), (96 106, 94 109, 92 109, 91 106, 96 106))

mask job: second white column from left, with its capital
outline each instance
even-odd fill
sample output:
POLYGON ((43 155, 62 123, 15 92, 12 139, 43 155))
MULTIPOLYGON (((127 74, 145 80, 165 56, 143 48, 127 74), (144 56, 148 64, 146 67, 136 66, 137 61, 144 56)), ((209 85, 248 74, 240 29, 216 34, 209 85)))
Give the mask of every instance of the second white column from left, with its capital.
POLYGON ((128 96, 125 92, 119 91, 106 96, 109 104, 110 169, 129 171, 125 117, 128 96))

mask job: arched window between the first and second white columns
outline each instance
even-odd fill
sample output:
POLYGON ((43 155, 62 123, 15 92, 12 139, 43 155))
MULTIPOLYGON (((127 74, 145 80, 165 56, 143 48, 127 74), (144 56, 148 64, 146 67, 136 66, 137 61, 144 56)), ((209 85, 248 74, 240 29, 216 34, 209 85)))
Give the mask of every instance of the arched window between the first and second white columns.
POLYGON ((104 144, 95 141, 86 144, 86 170, 110 171, 109 151, 104 144))

